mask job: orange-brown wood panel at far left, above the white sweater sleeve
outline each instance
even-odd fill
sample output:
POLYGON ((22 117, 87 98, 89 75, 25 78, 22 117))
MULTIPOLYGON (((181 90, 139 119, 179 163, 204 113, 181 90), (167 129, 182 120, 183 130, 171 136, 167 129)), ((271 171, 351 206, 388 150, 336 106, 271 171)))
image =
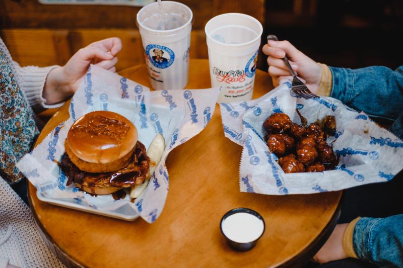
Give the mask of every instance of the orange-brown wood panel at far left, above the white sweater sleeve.
POLYGON ((21 66, 64 64, 70 57, 68 31, 14 29, 0 35, 21 66))

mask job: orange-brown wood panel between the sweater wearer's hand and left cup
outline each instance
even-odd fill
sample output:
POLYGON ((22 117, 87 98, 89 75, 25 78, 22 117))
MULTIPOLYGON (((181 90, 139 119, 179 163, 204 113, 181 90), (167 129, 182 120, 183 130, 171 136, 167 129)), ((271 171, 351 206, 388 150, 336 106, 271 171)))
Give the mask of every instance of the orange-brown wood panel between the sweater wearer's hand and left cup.
POLYGON ((122 50, 118 54, 116 70, 123 70, 134 65, 143 64, 143 45, 138 30, 126 29, 79 29, 70 32, 69 39, 73 53, 95 41, 109 37, 119 37, 122 41, 122 50))

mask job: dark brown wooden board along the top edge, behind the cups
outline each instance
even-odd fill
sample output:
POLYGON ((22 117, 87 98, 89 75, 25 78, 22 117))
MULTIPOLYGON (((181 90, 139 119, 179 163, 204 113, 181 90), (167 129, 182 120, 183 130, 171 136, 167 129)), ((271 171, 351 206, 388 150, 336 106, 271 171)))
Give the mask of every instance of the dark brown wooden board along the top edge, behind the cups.
MULTIPOLYGON (((192 10, 193 28, 204 28, 212 16, 212 0, 179 0, 178 2, 192 10)), ((235 2, 244 1, 236 0, 235 2)), ((42 5, 37 0, 0 0, 0 7, 0 29, 49 27, 54 29, 137 29, 135 18, 141 9, 113 5, 42 5)))

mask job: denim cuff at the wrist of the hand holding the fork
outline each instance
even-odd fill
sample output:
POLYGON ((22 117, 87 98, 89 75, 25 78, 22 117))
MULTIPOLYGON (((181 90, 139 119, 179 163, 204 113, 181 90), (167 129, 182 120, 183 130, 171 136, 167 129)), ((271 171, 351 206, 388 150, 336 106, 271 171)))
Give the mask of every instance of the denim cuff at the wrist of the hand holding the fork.
POLYGON ((354 73, 352 69, 329 67, 332 76, 330 97, 349 104, 354 92, 354 73))

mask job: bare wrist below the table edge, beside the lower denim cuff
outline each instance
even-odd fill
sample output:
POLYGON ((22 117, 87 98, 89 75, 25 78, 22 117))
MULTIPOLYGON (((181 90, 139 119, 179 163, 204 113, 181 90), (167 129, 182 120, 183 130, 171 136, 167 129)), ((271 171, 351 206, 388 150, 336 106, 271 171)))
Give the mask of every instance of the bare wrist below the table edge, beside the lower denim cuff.
POLYGON ((348 257, 343 248, 343 235, 346 231, 347 225, 347 223, 336 225, 329 239, 327 239, 324 245, 313 257, 315 261, 326 263, 348 257))

